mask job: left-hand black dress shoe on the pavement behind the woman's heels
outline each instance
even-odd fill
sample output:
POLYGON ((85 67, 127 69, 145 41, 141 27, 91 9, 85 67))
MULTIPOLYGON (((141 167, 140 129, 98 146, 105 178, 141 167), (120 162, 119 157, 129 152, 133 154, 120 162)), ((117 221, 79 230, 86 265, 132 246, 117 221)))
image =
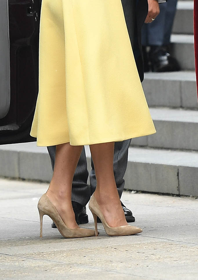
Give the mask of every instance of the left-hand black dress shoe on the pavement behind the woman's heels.
MULTIPOLYGON (((89 219, 86 212, 86 207, 75 201, 72 201, 72 207, 74 209, 77 224, 87 224, 89 222, 89 219)), ((52 222, 52 227, 56 228, 54 222, 52 222)))

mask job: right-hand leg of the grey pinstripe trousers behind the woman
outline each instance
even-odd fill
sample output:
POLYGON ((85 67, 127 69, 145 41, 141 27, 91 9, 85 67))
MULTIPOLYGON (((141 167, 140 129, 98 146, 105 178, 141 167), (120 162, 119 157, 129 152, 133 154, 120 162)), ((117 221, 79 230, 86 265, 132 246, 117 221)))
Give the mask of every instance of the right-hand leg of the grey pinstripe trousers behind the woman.
MULTIPOLYGON (((128 148, 130 146, 130 143, 131 143, 131 139, 121 141, 121 142, 115 142, 113 168, 114 168, 115 182, 120 198, 124 189, 125 182, 123 177, 126 172, 126 167, 128 162, 128 148)), ((91 165, 92 165, 92 170, 90 173, 90 185, 91 185, 91 193, 93 193, 96 188, 96 176, 95 176, 93 161, 91 161, 91 165)))

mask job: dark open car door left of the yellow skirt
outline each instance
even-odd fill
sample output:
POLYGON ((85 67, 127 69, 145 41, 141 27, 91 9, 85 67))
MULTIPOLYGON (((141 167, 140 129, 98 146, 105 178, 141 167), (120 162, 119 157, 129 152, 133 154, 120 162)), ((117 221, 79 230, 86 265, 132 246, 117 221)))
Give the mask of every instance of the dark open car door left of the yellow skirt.
POLYGON ((0 1, 0 144, 35 141, 41 0, 0 1))

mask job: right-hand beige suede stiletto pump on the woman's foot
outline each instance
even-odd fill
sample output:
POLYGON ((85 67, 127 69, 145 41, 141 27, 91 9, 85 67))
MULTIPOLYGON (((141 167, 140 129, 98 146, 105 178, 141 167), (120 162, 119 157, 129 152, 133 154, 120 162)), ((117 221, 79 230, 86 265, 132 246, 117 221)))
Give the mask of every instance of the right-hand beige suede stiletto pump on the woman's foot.
POLYGON ((133 235, 142 232, 142 229, 139 227, 134 227, 130 225, 121 226, 121 227, 110 227, 104 216, 103 213, 100 210, 100 207, 95 199, 94 194, 92 195, 90 202, 89 202, 89 209, 92 212, 93 218, 94 218, 94 224, 95 224, 95 235, 97 236, 97 217, 100 218, 103 227, 106 231, 106 233, 110 236, 122 236, 122 235, 133 235))

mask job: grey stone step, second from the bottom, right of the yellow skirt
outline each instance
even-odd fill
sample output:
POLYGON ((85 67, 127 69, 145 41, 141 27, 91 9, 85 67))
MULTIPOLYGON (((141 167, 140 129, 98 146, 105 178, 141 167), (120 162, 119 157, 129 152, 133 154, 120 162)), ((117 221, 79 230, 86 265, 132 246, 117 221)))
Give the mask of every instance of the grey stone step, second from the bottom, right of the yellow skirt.
POLYGON ((198 111, 150 108, 157 133, 132 139, 131 145, 198 150, 198 111))

